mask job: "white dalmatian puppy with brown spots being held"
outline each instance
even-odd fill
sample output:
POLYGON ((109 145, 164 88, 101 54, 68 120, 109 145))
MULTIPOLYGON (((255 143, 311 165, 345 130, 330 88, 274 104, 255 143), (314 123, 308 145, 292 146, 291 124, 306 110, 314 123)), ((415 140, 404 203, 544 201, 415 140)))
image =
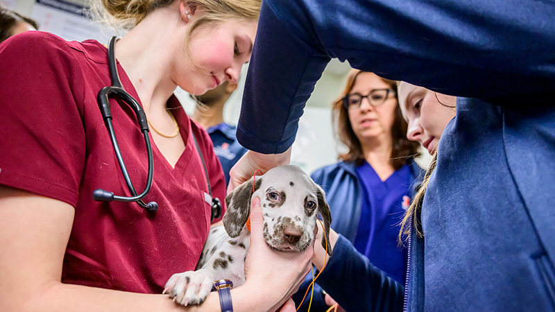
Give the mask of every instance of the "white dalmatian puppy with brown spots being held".
MULTIPOLYGON (((264 216, 264 240, 284 252, 301 252, 314 241, 316 217, 321 214, 331 255, 328 233, 332 216, 321 187, 298 166, 272 168, 261 177, 244 182, 234 189, 225 204, 223 226, 210 230, 195 271, 174 274, 164 293, 183 304, 202 304, 212 283, 230 279, 235 287, 245 282, 245 258, 250 246, 246 222, 250 215, 250 199, 260 198, 264 216)), ((326 248, 325 240, 322 245, 326 248)))

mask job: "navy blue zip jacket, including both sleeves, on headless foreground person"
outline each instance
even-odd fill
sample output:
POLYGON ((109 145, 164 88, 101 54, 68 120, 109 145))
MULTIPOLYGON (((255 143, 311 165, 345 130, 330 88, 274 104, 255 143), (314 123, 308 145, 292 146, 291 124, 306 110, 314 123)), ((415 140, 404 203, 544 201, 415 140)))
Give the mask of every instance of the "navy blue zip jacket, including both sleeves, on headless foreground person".
POLYGON ((555 310, 554 16, 552 0, 263 2, 237 129, 247 148, 291 146, 332 57, 461 96, 407 292, 343 239, 318 283, 348 311, 396 311, 403 295, 410 311, 555 310))

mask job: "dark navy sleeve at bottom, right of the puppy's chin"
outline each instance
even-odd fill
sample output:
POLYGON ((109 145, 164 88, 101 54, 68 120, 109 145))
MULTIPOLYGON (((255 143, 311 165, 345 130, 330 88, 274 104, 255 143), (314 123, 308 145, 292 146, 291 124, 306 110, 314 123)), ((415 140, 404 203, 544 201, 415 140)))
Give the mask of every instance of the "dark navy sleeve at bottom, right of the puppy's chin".
POLYGON ((318 284, 346 311, 402 311, 404 288, 339 236, 318 284))

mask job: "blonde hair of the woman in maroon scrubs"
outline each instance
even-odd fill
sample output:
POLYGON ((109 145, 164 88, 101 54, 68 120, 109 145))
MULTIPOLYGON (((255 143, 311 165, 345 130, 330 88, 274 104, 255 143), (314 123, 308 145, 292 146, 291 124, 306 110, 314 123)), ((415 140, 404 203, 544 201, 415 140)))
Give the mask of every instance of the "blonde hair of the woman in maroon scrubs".
MULTIPOLYGON (((130 30, 149 12, 169 6, 173 1, 185 0, 101 0, 92 1, 91 12, 99 20, 114 28, 130 30)), ((192 21, 187 37, 199 26, 220 24, 230 19, 258 19, 262 0, 187 0, 191 10, 202 8, 203 15, 192 21)))

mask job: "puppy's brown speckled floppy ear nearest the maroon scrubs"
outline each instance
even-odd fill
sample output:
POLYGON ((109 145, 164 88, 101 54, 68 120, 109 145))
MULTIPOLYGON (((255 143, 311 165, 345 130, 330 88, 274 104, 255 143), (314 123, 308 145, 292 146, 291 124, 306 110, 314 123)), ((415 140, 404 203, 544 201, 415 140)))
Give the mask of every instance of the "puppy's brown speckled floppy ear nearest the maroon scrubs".
MULTIPOLYGON (((260 183, 262 183, 262 178, 256 177, 255 191, 260 187, 260 183)), ((223 227, 229 236, 237 237, 241 234, 250 214, 250 198, 253 193, 253 179, 250 179, 239 185, 225 198, 225 205, 228 209, 223 215, 223 227)))

